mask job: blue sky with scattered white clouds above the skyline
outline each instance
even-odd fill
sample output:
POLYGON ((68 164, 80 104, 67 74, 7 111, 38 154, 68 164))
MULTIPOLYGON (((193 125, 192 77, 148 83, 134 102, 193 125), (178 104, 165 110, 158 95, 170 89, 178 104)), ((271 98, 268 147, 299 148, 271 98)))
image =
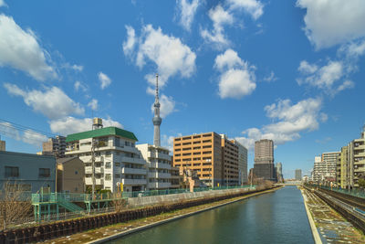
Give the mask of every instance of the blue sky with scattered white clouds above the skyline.
POLYGON ((225 133, 272 139, 284 177, 360 137, 363 0, 0 0, 0 135, 34 154, 47 137, 104 126, 162 145, 225 133))

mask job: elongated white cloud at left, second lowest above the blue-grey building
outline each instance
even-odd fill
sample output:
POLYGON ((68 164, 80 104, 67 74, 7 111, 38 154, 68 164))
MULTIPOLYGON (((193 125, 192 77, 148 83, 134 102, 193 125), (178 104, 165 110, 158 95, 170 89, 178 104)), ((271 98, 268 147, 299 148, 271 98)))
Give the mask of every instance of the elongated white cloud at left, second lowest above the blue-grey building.
POLYGON ((5 83, 9 94, 20 96, 26 105, 34 111, 41 112, 49 119, 58 119, 69 114, 83 114, 84 109, 78 102, 71 100, 67 94, 57 87, 41 90, 22 90, 14 84, 5 83))

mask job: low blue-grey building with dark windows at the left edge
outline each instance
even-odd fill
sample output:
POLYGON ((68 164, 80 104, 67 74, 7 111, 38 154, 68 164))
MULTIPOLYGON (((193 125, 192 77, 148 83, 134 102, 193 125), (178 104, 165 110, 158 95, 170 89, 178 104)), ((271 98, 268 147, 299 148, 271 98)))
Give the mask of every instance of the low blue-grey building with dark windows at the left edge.
POLYGON ((55 191, 56 159, 53 156, 0 151, 0 190, 36 193, 41 187, 55 191))

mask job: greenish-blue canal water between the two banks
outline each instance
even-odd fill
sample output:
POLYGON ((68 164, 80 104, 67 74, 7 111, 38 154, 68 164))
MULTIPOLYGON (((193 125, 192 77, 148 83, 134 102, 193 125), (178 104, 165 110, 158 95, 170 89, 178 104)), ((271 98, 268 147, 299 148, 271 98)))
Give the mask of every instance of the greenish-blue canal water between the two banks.
POLYGON ((296 186, 253 196, 110 243, 314 243, 296 186))

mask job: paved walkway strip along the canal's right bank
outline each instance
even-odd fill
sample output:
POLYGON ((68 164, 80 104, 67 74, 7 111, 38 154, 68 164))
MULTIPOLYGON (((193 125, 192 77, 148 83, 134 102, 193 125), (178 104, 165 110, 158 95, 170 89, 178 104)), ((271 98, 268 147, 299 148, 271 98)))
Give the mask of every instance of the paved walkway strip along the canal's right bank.
POLYGON ((318 196, 304 188, 302 194, 322 243, 365 243, 365 236, 360 230, 354 228, 318 196))

